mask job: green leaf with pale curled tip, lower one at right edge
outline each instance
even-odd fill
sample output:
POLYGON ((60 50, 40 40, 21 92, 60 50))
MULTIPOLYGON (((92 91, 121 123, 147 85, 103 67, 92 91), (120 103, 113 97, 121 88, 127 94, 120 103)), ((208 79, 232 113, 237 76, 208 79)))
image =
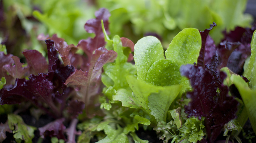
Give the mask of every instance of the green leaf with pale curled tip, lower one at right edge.
POLYGON ((237 87, 243 99, 253 131, 256 133, 256 89, 250 89, 244 79, 238 75, 233 74, 230 79, 237 87))

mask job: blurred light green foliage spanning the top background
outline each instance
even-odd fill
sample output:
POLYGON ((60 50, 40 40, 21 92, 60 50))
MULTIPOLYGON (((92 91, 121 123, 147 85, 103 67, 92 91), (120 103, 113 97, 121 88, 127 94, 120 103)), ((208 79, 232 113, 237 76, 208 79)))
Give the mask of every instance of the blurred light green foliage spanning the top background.
POLYGON ((76 45, 93 37, 84 24, 104 7, 111 13, 111 38, 119 35, 136 43, 153 35, 167 48, 182 29, 203 31, 215 22, 217 27, 210 36, 218 44, 222 31, 251 26, 253 17, 245 13, 246 4, 247 0, 1 0, 0 42, 15 56, 22 56, 24 49, 36 49, 45 56, 44 41, 37 40, 39 34, 57 34, 76 45))

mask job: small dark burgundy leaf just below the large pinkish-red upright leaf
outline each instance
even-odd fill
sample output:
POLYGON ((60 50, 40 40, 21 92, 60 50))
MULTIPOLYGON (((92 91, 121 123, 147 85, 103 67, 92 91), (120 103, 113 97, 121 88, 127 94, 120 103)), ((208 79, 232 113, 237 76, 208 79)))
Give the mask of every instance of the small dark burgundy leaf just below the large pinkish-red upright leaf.
POLYGON ((69 113, 70 117, 75 119, 77 118, 78 114, 83 112, 85 104, 81 101, 72 100, 68 104, 67 112, 69 113))

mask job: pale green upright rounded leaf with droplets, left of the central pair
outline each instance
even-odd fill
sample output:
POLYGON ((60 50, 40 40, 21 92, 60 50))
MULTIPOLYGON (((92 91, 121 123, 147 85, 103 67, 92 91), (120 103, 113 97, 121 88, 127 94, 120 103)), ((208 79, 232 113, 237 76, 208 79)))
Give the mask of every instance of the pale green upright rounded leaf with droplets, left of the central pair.
POLYGON ((161 42, 153 36, 140 39, 134 46, 138 79, 145 81, 149 68, 160 59, 164 59, 161 42))

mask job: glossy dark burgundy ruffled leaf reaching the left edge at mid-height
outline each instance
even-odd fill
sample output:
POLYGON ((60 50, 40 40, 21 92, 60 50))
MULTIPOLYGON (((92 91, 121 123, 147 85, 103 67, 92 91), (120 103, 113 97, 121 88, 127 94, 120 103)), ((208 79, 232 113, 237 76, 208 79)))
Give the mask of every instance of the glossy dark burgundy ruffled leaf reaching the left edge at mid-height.
MULTIPOLYGON (((16 104, 29 100, 41 108, 43 108, 42 103, 52 106, 53 83, 46 77, 47 74, 40 73, 39 75, 31 75, 29 80, 16 79, 11 90, 3 90, 3 94, 0 95, 0 104, 16 104)), ((54 109, 55 107, 53 107, 54 109)))

